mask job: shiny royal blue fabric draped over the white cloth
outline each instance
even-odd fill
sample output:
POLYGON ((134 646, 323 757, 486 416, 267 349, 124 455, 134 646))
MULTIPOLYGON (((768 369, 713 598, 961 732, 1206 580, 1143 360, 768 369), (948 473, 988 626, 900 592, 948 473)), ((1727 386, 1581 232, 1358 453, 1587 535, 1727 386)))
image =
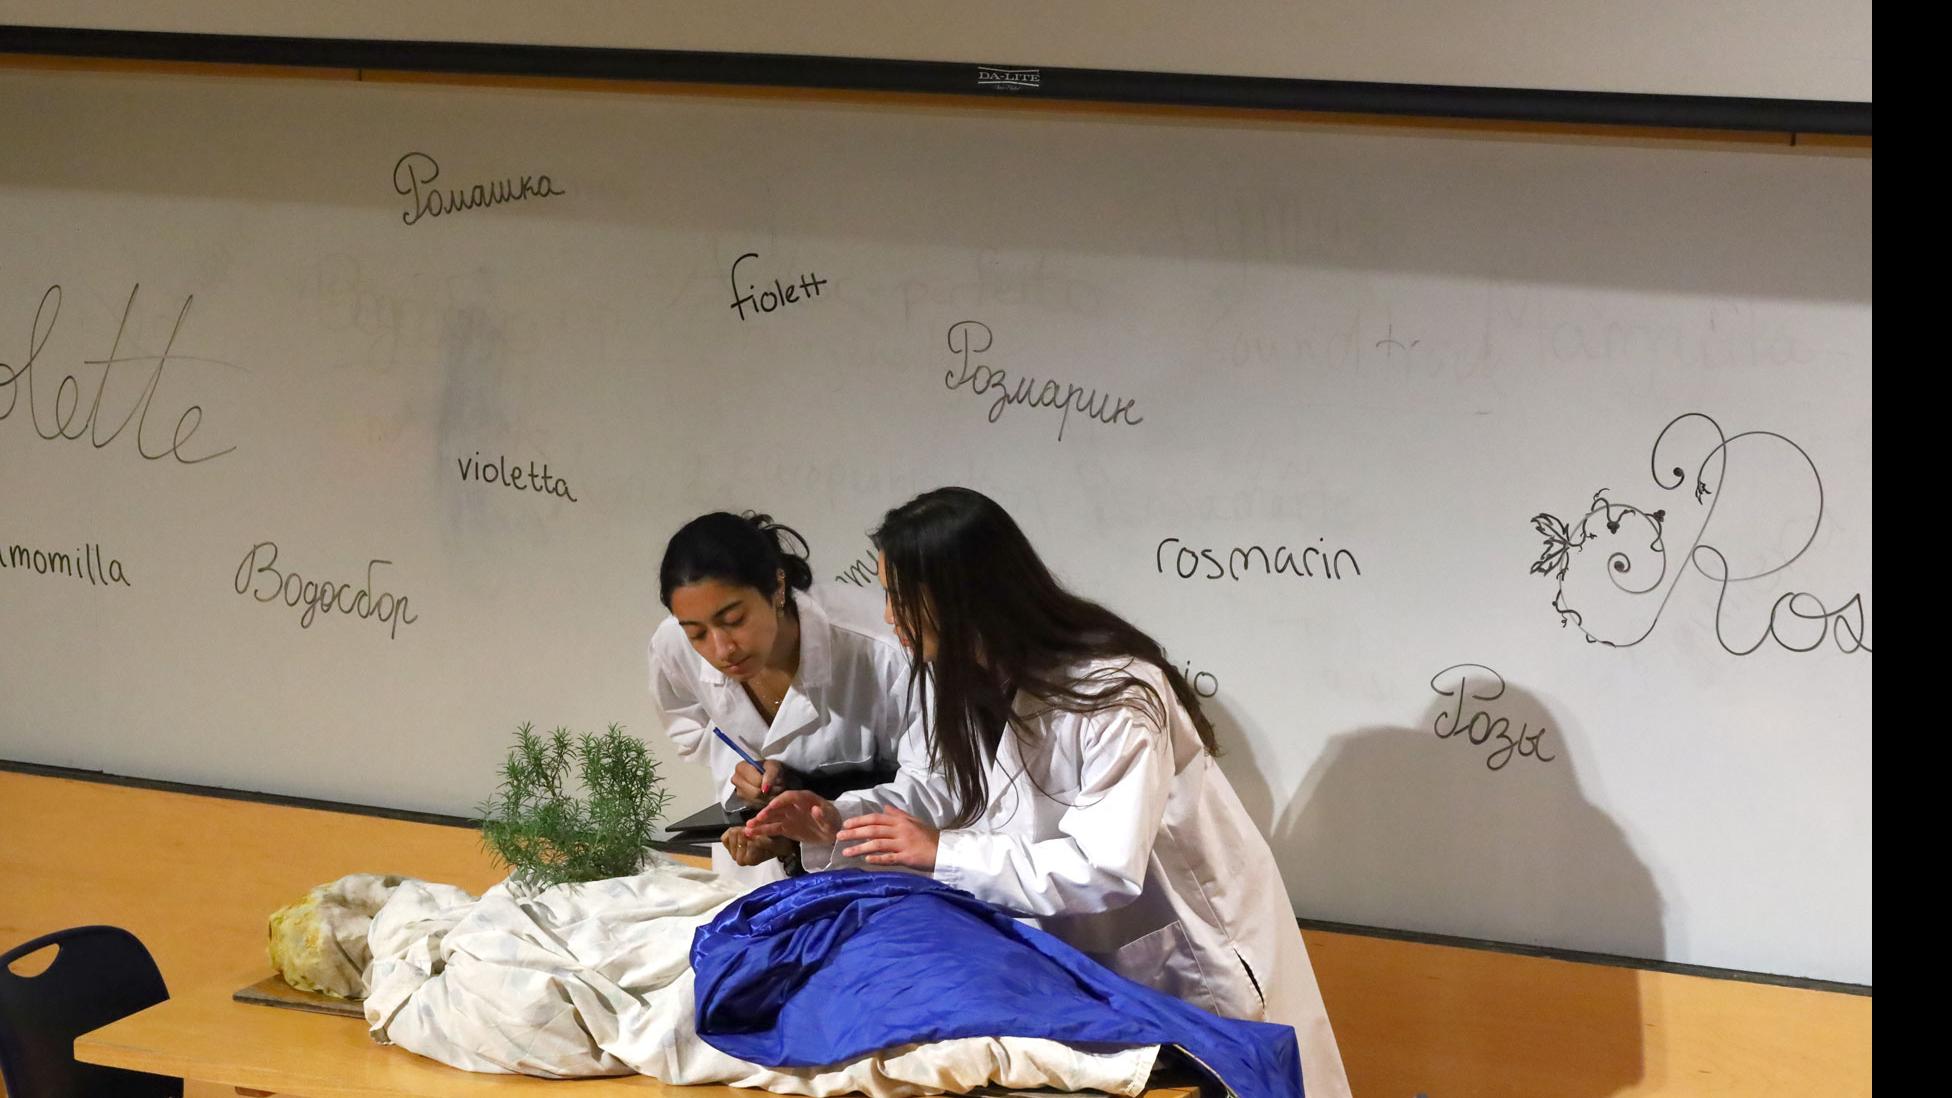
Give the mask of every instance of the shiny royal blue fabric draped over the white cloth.
POLYGON ((765 1067, 951 1037, 1177 1045, 1243 1098, 1300 1098, 1294 1030, 1220 1018, 927 877, 837 869, 740 897, 691 942, 699 1035, 765 1067))

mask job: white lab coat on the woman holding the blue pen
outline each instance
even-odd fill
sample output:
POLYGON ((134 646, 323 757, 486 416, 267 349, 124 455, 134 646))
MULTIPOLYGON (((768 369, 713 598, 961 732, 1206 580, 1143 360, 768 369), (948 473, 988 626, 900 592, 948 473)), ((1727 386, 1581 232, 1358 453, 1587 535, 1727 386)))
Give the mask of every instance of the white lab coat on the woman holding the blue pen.
MULTIPOLYGON (((847 606, 845 592, 796 592, 794 604, 800 670, 771 725, 738 680, 691 647, 675 617, 658 625, 650 637, 650 694, 664 709, 671 746, 679 758, 711 768, 728 809, 744 805, 732 789, 740 758, 718 742, 712 725, 755 758, 777 758, 800 774, 896 766, 896 778, 884 785, 888 797, 929 811, 935 795, 925 789, 927 746, 921 705, 910 701, 908 653, 886 625, 847 606)), ((738 866, 722 844, 712 846, 712 869, 748 887, 785 875, 779 862, 738 866)))

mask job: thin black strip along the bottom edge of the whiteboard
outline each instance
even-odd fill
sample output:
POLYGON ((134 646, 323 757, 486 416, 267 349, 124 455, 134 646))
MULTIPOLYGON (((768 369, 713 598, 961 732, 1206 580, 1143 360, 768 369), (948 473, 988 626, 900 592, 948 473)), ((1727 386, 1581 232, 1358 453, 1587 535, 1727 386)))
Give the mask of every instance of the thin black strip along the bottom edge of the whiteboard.
MULTIPOLYGON (((0 772, 31 774, 37 778, 66 778, 70 781, 96 781, 102 785, 127 785, 135 789, 156 789, 162 793, 187 793, 191 797, 219 797, 224 801, 254 801, 260 805, 283 805, 293 809, 316 809, 324 813, 347 813, 355 817, 381 817, 390 821, 429 823, 443 826, 472 828, 467 817, 447 817, 439 813, 414 813, 406 809, 383 809, 377 805, 347 805, 342 801, 314 801, 310 797, 285 797, 281 793, 252 793, 242 789, 221 789, 215 785, 187 785, 183 781, 158 781, 154 778, 127 778, 102 770, 76 770, 70 766, 47 766, 41 762, 16 762, 0 758, 0 772)), ((711 846, 683 842, 654 842, 658 850, 671 854, 707 854, 711 846)), ((1386 926, 1359 926, 1351 922, 1327 922, 1320 918, 1298 918, 1306 930, 1325 930, 1331 934, 1357 934, 1362 938, 1386 938, 1390 942, 1411 942, 1417 946, 1452 946, 1458 950, 1480 950, 1487 953, 1511 953, 1517 957, 1544 957, 1548 961, 1571 961, 1579 965, 1605 965, 1616 969, 1640 969, 1649 973, 1673 973, 1685 977, 1726 979, 1737 983, 1763 983, 1772 987, 1792 987, 1802 991, 1829 991, 1839 994, 1870 996, 1870 985, 1819 981, 1806 977, 1782 977, 1772 973, 1749 973, 1741 969, 1712 969, 1706 965, 1679 965, 1673 961, 1649 961, 1642 957, 1622 957, 1616 953, 1583 953, 1577 950, 1554 950, 1548 946, 1523 946, 1515 942, 1491 942, 1484 938, 1454 938, 1448 934, 1423 934, 1417 930, 1390 930, 1386 926)))

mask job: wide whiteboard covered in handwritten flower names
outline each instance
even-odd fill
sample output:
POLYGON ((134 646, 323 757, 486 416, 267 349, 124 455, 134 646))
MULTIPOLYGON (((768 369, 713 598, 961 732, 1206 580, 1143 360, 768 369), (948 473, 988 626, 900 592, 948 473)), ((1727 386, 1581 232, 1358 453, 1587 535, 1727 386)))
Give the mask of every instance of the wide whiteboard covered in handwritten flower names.
POLYGON ((873 612, 956 483, 1300 914, 1872 983, 1868 156, 27 72, 0 139, 0 758, 467 813, 521 721, 664 750, 683 520, 873 612))

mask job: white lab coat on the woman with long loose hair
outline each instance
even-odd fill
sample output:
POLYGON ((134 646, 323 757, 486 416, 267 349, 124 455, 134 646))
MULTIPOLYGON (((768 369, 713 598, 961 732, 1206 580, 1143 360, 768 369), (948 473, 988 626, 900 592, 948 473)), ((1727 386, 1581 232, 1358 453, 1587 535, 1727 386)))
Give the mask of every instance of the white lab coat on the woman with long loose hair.
MULTIPOLYGON (((1275 854, 1165 674, 1124 660, 1074 672, 1126 666, 1165 701, 1163 733, 1144 707, 1068 713, 1019 694, 1015 711, 1031 737, 1003 735, 988 772, 990 805, 970 826, 941 832, 935 877, 1126 979, 1228 1018, 1294 1026, 1308 1098, 1347 1098, 1275 854)), ((853 817, 900 795, 874 789, 837 803, 853 817)), ((933 805, 904 807, 925 815, 933 805)), ((933 823, 947 819, 941 807, 933 813, 933 823)), ((804 854, 808 867, 859 864, 832 848, 804 854)))

